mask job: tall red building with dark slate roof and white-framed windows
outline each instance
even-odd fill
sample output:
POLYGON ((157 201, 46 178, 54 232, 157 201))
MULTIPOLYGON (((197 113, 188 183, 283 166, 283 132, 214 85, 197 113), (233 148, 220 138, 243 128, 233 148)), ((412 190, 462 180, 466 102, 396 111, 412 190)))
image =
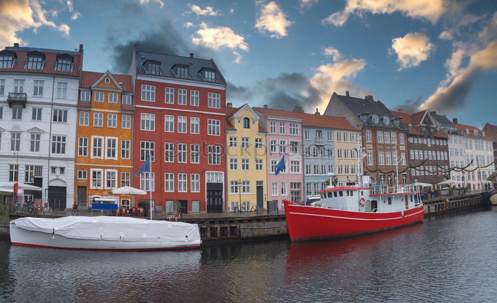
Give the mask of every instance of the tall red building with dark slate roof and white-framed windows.
POLYGON ((226 81, 214 61, 135 45, 129 74, 136 91, 135 171, 149 154, 152 159, 152 172, 135 177, 135 186, 152 191, 156 211, 224 211, 226 81))

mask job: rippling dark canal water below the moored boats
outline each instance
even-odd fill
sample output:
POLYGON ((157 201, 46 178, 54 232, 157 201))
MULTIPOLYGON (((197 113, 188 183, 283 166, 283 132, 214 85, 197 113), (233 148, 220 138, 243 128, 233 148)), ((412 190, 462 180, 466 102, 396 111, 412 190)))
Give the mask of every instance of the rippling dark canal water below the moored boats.
POLYGON ((497 209, 341 241, 154 252, 0 241, 0 301, 495 302, 497 209))

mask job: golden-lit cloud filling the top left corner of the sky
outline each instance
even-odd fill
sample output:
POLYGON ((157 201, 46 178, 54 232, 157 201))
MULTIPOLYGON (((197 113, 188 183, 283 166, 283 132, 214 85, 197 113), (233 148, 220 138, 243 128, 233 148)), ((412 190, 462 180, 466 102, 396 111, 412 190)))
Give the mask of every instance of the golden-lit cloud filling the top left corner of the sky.
POLYGON ((1 0, 0 1, 0 45, 11 45, 14 42, 25 45, 17 36, 18 32, 32 28, 36 33, 40 26, 52 27, 65 36, 69 36, 71 28, 64 23, 60 25, 47 20, 47 12, 37 0, 1 0))

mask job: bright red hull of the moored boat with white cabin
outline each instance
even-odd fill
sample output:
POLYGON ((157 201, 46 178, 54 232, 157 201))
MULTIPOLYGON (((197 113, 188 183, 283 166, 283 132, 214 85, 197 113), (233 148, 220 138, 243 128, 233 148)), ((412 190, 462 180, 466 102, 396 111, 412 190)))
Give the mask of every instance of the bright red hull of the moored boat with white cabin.
POLYGON ((369 213, 284 203, 288 235, 292 241, 375 233, 415 224, 424 217, 422 205, 399 212, 369 213))

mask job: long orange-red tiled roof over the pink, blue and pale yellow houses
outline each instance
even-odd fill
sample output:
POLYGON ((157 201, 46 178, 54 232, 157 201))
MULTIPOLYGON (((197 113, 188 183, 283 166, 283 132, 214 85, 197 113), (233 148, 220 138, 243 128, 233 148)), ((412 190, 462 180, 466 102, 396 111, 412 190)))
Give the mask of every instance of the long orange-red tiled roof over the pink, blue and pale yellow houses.
POLYGON ((254 107, 253 109, 261 112, 262 114, 270 117, 280 117, 289 119, 302 120, 303 126, 314 126, 314 127, 326 127, 326 128, 336 128, 336 129, 348 129, 357 130, 352 126, 347 119, 343 117, 325 116, 325 115, 314 115, 305 113, 295 113, 283 110, 266 109, 260 107, 254 107))

